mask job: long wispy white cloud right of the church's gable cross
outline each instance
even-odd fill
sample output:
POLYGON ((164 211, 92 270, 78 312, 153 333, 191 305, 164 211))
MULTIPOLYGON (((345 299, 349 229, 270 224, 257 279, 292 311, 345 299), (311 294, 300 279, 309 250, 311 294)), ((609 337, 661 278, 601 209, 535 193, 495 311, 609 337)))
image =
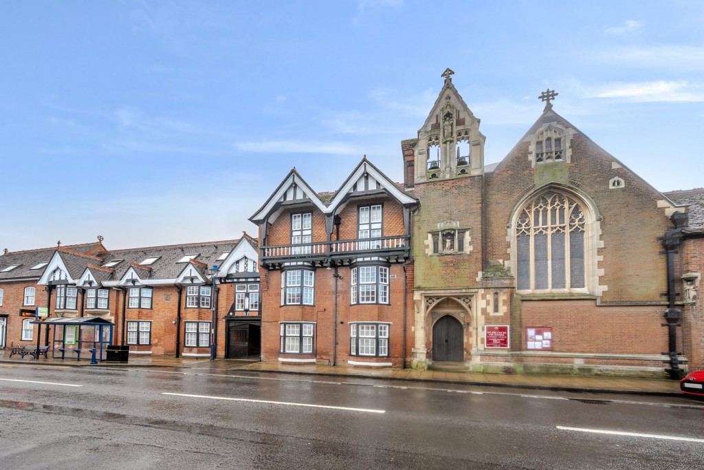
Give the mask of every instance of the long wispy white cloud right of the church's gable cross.
POLYGON ((704 101, 704 86, 686 80, 614 83, 587 92, 589 98, 624 98, 632 101, 704 101))

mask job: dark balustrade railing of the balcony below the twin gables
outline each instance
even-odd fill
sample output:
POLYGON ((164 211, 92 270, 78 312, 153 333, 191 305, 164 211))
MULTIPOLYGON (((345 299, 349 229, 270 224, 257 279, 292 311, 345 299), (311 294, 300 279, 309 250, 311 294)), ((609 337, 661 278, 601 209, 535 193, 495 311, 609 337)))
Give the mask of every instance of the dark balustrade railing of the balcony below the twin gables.
POLYGON ((276 245, 261 247, 262 259, 272 258, 308 258, 334 256, 356 252, 389 252, 408 250, 408 238, 382 237, 362 238, 356 240, 332 240, 331 242, 309 243, 306 245, 276 245))

